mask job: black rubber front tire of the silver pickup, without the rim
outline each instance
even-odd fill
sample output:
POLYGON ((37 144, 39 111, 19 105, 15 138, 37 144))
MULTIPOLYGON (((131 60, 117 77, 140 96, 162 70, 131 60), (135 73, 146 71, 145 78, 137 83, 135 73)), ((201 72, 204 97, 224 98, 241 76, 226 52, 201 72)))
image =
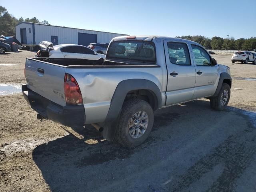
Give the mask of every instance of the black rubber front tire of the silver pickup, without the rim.
POLYGON ((230 86, 227 83, 223 83, 218 95, 216 97, 210 98, 210 105, 211 105, 212 109, 214 109, 214 110, 224 110, 226 108, 226 106, 228 105, 229 99, 230 99, 230 86), (222 96, 222 93, 224 92, 224 90, 228 90, 228 98, 226 100, 226 103, 224 105, 222 105, 221 104, 221 96, 222 96))

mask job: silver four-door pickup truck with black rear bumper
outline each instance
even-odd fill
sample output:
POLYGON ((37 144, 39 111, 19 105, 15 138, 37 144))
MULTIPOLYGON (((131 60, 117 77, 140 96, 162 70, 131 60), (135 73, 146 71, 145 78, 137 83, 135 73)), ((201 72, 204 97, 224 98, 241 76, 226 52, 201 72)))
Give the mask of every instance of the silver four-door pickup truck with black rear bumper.
POLYGON ((157 109, 208 98, 223 110, 232 84, 230 68, 200 44, 162 36, 113 38, 105 60, 27 58, 24 72, 38 119, 92 124, 127 147, 146 140, 157 109))

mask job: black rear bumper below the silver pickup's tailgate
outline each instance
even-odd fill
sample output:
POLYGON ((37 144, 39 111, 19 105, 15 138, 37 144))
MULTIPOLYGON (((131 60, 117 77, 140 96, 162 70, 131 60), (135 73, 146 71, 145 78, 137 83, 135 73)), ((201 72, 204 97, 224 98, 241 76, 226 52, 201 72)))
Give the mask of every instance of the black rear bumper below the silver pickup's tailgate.
POLYGON ((22 85, 22 93, 31 108, 43 118, 64 126, 82 126, 85 122, 83 105, 60 106, 22 85))

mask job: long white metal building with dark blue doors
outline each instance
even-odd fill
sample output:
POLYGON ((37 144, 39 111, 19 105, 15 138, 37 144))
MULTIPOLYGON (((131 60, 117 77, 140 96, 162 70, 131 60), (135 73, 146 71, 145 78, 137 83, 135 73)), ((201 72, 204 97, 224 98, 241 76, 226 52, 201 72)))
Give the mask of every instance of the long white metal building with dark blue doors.
POLYGON ((114 37, 124 36, 94 30, 77 29, 30 22, 20 22, 16 25, 16 38, 27 46, 38 45, 41 41, 57 44, 80 44, 88 46, 92 42, 109 43, 114 37))

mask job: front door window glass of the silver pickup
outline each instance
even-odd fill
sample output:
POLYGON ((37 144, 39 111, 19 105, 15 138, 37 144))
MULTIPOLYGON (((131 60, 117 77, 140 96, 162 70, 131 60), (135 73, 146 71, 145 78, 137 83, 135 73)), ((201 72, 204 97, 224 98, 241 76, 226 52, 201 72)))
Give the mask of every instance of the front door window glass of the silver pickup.
POLYGON ((206 51, 201 48, 200 46, 191 45, 194 55, 194 60, 196 62, 196 65, 210 65, 211 60, 210 56, 206 53, 206 51))

